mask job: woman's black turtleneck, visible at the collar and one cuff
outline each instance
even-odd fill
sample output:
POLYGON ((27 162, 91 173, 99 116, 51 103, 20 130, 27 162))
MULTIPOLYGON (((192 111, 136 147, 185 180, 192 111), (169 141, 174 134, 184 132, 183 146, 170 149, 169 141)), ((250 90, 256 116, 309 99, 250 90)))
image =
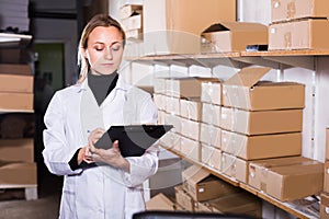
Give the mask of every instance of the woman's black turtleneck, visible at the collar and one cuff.
MULTIPOLYGON (((111 74, 102 74, 102 76, 95 76, 88 73, 88 85, 91 89, 97 102, 99 105, 103 103, 103 101, 106 99, 109 93, 115 88, 117 82, 118 74, 117 72, 113 72, 111 74)), ((80 165, 78 165, 78 154, 80 149, 78 149, 72 157, 72 159, 69 161, 69 165, 72 171, 78 170, 79 168, 86 169, 86 168, 92 168, 94 166, 93 163, 88 164, 84 161, 80 165)))

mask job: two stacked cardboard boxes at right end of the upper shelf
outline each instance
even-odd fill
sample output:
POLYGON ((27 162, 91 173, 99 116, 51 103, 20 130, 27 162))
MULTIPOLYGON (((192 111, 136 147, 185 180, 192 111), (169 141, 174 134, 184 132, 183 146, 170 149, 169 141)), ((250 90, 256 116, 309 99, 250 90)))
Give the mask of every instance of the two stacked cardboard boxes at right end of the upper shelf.
POLYGON ((269 50, 328 49, 327 0, 272 0, 269 50))

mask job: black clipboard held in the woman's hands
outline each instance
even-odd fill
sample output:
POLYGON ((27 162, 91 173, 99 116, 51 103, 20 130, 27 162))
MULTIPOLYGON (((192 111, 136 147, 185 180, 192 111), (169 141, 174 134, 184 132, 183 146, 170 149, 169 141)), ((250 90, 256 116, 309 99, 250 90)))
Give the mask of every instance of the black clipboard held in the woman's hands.
POLYGON ((109 149, 115 140, 118 140, 123 157, 139 157, 171 128, 172 125, 111 126, 94 146, 109 149))

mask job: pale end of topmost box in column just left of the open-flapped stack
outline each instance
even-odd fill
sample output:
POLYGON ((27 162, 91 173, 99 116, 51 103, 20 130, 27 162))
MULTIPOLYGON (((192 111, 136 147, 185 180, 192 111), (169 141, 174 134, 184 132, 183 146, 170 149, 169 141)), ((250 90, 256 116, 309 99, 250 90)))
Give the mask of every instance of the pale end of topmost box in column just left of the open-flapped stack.
POLYGON ((222 105, 222 82, 208 81, 201 83, 201 101, 222 105))

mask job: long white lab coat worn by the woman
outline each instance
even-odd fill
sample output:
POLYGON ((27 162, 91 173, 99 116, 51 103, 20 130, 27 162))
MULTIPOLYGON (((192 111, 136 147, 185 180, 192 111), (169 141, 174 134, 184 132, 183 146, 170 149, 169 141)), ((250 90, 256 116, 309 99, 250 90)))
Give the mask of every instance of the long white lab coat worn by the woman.
POLYGON ((143 182, 158 169, 156 145, 143 157, 127 158, 131 173, 110 165, 72 171, 68 162, 77 149, 87 146, 88 131, 95 127, 156 122, 150 95, 125 83, 121 76, 101 106, 87 79, 55 93, 45 114, 43 155, 52 173, 65 175, 60 219, 132 218, 145 209, 143 182))

